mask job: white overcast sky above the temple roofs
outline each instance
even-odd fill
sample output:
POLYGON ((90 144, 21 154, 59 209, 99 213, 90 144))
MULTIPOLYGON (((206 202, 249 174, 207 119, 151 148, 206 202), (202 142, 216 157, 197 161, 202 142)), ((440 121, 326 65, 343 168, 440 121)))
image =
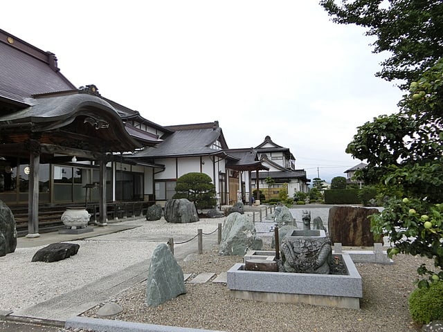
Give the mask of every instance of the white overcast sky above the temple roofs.
POLYGON ((6 1, 0 28, 55 53, 75 86, 161 125, 219 121, 230 148, 265 136, 330 181, 360 163, 356 127, 397 111, 384 55, 317 1, 6 1))

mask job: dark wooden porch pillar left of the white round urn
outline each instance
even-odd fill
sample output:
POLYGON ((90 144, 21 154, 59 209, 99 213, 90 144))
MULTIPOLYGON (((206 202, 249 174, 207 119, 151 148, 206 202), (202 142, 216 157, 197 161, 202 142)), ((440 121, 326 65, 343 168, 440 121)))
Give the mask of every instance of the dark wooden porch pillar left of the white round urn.
POLYGON ((39 151, 31 151, 29 160, 28 234, 26 237, 39 237, 39 151))

